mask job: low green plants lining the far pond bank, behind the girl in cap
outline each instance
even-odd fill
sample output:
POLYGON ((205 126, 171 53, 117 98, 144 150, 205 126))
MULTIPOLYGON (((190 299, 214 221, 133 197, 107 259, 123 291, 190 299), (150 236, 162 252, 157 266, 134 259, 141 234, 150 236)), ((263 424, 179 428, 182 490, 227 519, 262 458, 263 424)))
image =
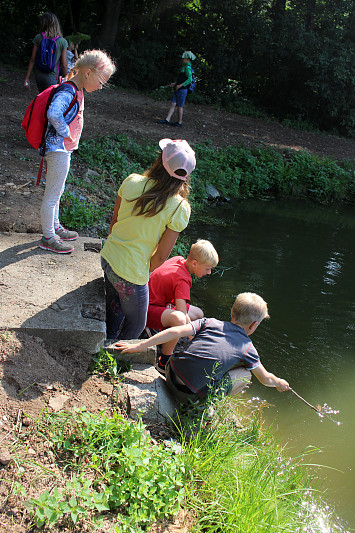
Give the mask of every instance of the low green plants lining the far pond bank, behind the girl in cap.
MULTIPOLYGON (((215 148, 194 144, 197 167, 192 174, 193 216, 205 218, 206 185, 230 199, 307 198, 318 203, 355 203, 355 163, 319 158, 306 151, 281 153, 270 148, 215 148)), ((142 173, 155 160, 158 147, 125 135, 82 142, 82 166, 97 172, 84 179, 73 173, 62 201, 62 220, 68 227, 93 229, 106 236, 117 190, 131 173, 142 173)))

